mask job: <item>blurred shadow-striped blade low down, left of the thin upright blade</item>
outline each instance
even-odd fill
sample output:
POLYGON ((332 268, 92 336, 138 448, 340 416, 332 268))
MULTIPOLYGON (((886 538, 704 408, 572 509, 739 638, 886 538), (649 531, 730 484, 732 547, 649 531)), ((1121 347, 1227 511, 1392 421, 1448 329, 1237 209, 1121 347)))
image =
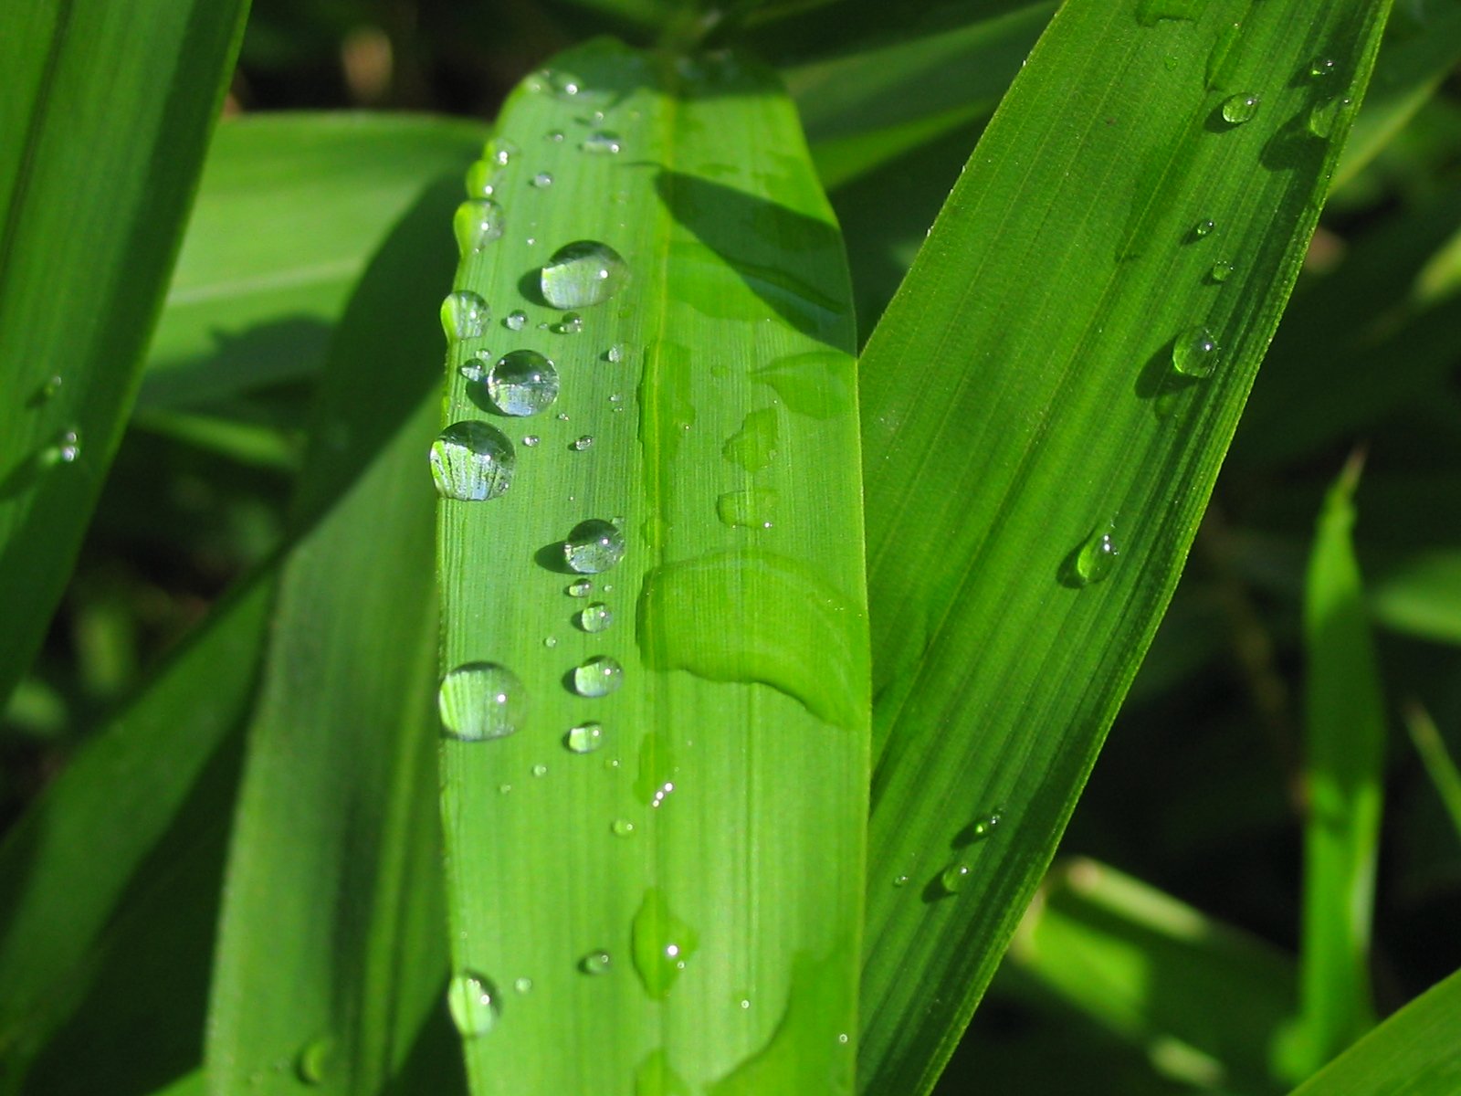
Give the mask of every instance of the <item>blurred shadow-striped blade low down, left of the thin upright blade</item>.
POLYGON ((1202 1087, 1274 1087, 1270 1042, 1294 1005, 1292 959, 1094 861, 1046 877, 1010 959, 1202 1087))

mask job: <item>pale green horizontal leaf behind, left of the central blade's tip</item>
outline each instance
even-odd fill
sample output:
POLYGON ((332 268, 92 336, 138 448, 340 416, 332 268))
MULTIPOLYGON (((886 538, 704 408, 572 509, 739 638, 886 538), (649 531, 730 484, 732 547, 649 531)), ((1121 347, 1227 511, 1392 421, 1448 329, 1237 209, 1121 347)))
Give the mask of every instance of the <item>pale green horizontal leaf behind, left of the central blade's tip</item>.
POLYGON ((137 406, 216 402, 314 376, 386 232, 484 136, 478 123, 371 114, 221 126, 137 406))

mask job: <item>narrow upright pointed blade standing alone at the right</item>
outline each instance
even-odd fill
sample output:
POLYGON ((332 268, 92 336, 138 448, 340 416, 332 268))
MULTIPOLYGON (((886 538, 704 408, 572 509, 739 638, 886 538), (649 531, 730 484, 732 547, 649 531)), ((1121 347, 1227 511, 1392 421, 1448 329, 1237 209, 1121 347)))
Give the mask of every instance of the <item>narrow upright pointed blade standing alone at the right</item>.
POLYGON ((1354 558, 1351 459, 1324 501, 1305 592, 1303 931, 1299 1014, 1275 1048, 1297 1081, 1375 1024, 1370 916, 1385 772, 1385 706, 1354 558))

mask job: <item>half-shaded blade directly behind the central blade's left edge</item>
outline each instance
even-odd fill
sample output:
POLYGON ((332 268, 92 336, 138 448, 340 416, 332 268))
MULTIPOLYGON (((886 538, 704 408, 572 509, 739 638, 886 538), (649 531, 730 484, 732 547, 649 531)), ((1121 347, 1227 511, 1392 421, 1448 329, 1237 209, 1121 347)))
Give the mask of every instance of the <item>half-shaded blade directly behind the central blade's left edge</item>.
POLYGON ((454 181, 405 216, 330 351, 248 737, 209 1090, 378 1092, 446 979, 431 491, 454 181))

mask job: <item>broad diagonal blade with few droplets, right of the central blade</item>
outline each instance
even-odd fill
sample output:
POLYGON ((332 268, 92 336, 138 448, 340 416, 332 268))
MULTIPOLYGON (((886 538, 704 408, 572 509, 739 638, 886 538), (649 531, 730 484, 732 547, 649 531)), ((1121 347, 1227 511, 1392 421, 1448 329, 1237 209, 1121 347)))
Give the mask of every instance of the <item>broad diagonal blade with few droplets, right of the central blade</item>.
POLYGON ((1071 0, 866 348, 866 1092, 931 1084, 1049 861, 1386 10, 1071 0))

